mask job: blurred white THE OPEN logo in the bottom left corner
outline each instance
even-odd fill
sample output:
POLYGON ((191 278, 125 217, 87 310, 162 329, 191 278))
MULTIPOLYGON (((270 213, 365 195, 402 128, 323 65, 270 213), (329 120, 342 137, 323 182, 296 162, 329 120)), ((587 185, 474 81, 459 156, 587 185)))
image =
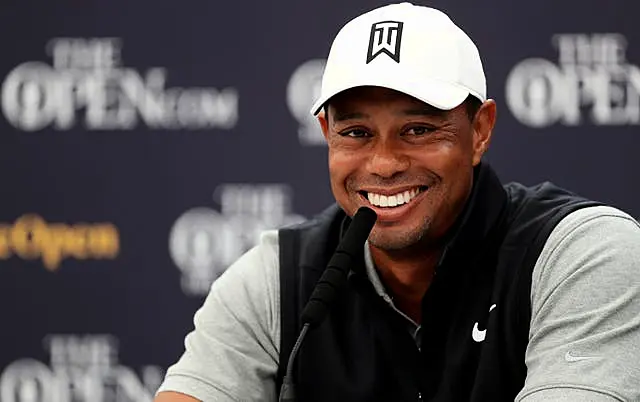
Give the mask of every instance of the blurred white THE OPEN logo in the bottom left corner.
POLYGON ((4 369, 2 402, 151 402, 164 376, 158 366, 138 374, 119 364, 111 335, 50 335, 44 344, 49 365, 25 358, 4 369))

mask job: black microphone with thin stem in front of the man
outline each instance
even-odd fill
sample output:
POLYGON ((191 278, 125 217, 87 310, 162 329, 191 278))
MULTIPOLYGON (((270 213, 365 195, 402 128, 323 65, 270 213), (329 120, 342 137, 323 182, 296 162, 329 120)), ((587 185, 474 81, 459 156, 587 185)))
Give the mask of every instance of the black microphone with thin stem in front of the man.
POLYGON ((376 219, 377 215, 372 209, 367 207, 358 209, 340 244, 338 244, 336 251, 329 260, 327 268, 313 289, 309 301, 302 310, 302 330, 289 355, 287 371, 280 388, 280 402, 294 402, 296 400, 293 363, 298 349, 300 349, 307 331, 320 325, 329 312, 331 305, 343 292, 347 285, 349 268, 354 259, 361 255, 364 242, 369 237, 376 219))

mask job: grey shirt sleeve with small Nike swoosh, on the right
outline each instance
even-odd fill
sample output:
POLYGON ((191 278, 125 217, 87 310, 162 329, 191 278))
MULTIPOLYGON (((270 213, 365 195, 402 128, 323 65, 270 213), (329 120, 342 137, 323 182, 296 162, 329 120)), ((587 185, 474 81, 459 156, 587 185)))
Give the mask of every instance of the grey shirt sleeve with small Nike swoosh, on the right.
POLYGON ((640 225, 612 207, 565 217, 536 263, 517 402, 640 400, 640 225))

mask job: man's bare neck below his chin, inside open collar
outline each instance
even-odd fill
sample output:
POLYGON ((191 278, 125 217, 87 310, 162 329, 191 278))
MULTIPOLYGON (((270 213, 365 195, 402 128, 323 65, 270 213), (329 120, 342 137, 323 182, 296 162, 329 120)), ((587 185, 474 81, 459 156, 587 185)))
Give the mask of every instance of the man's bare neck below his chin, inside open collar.
POLYGON ((371 257, 394 305, 415 322, 421 320, 424 294, 433 280, 441 248, 382 250, 370 245, 371 257))

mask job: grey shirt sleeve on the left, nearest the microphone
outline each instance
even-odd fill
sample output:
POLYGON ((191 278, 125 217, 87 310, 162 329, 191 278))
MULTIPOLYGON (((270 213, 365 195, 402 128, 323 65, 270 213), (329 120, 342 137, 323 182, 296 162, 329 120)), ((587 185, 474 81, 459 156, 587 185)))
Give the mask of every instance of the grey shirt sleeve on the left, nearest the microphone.
POLYGON ((232 264, 194 316, 185 351, 157 392, 201 401, 274 401, 280 347, 277 232, 232 264))

